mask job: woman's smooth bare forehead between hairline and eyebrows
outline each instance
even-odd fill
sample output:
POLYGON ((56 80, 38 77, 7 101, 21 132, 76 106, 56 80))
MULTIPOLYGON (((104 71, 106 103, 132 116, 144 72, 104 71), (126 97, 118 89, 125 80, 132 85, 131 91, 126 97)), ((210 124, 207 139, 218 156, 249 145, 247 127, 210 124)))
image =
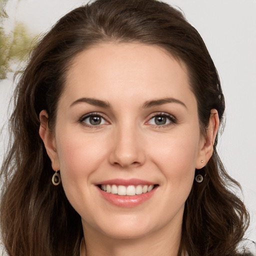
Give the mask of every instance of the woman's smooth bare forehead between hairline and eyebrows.
POLYGON ((185 64, 158 46, 142 43, 101 43, 85 49, 72 60, 64 92, 70 100, 81 95, 104 100, 193 97, 185 64))

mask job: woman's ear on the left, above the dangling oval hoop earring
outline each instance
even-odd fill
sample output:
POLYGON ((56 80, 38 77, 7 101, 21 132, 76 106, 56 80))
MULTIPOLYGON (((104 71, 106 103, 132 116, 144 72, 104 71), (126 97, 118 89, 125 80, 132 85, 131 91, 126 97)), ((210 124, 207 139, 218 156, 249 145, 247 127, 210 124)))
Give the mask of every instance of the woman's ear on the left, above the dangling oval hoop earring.
POLYGON ((48 113, 42 110, 39 114, 40 128, 39 135, 44 143, 46 152, 51 160, 53 170, 59 170, 59 160, 56 150, 56 141, 52 132, 48 129, 48 113))

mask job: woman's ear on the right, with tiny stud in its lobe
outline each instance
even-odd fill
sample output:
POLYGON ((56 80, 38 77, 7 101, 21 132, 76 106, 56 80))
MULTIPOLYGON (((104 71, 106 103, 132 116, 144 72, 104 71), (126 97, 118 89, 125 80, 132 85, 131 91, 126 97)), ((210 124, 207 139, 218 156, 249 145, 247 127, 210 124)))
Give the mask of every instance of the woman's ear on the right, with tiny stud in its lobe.
POLYGON ((202 138, 196 158, 196 169, 201 169, 206 165, 213 152, 213 144, 219 126, 218 112, 216 109, 210 110, 209 124, 206 129, 205 137, 202 138))

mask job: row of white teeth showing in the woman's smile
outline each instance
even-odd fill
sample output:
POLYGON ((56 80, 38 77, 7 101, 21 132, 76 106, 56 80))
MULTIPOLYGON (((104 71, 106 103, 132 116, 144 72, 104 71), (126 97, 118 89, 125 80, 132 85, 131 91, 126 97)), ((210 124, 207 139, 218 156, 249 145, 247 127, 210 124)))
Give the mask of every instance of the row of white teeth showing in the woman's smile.
POLYGON ((135 195, 149 192, 153 189, 153 185, 110 185, 104 184, 101 185, 101 190, 106 191, 107 193, 118 194, 118 195, 135 195))

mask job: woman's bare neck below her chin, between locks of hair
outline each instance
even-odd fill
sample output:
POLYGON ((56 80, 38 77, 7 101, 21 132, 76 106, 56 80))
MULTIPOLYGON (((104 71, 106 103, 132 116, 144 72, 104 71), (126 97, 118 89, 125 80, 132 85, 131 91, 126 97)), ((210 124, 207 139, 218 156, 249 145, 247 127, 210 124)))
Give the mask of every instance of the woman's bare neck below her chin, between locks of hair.
POLYGON ((127 239, 108 237, 87 226, 83 229, 86 256, 177 256, 181 239, 181 226, 170 229, 166 225, 143 237, 127 239))

